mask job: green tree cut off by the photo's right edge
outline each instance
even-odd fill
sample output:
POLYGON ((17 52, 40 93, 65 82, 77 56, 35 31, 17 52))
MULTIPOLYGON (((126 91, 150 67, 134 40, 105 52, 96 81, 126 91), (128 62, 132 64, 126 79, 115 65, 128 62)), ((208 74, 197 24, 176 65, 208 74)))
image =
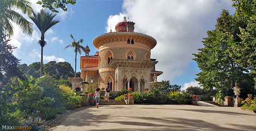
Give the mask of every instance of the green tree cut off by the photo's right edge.
POLYGON ((236 16, 246 19, 247 26, 239 27, 241 41, 233 43, 233 52, 230 54, 235 63, 251 70, 254 76, 254 88, 256 89, 256 1, 233 0, 236 8, 236 16))

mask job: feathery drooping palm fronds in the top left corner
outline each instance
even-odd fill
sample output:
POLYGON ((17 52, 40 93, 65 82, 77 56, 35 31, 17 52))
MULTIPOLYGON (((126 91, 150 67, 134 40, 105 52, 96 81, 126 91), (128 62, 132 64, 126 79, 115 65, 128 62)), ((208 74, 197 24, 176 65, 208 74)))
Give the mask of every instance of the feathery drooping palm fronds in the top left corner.
POLYGON ((31 2, 27 0, 1 0, 0 1, 0 52, 4 51, 4 40, 7 36, 13 35, 13 25, 20 26, 25 34, 32 35, 33 24, 13 9, 19 9, 23 14, 32 14, 31 2))

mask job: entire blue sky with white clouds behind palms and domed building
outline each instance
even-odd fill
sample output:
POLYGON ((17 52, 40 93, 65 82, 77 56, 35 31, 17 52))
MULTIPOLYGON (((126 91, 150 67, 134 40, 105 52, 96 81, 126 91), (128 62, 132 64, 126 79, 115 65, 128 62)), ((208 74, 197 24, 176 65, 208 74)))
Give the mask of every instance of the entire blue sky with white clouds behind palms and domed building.
MULTIPOLYGON (((39 11, 40 5, 32 0, 32 7, 39 11)), ((90 48, 89 55, 97 49, 92 44, 96 36, 114 31, 115 24, 123 21, 135 22, 135 31, 153 36, 157 45, 151 50, 151 58, 159 63, 156 70, 163 71, 157 80, 170 80, 183 89, 198 86, 194 80, 200 72, 197 63, 192 60, 192 53, 203 47, 206 31, 215 29, 216 18, 222 9, 234 14, 231 0, 131 0, 131 1, 86 1, 77 0, 75 5, 68 5, 68 12, 60 11, 56 19, 59 23, 48 30, 45 35, 47 45, 44 47, 44 63, 66 61, 75 69, 74 49, 64 47, 72 43, 70 34, 82 45, 90 48)), ((26 15, 24 15, 31 21, 26 15)), ((31 21, 32 22, 32 21, 31 21)), ((21 64, 40 61, 40 31, 34 25, 32 36, 22 34, 14 24, 15 31, 10 43, 18 47, 14 55, 21 64)), ((80 71, 80 56, 77 56, 77 71, 80 71)))

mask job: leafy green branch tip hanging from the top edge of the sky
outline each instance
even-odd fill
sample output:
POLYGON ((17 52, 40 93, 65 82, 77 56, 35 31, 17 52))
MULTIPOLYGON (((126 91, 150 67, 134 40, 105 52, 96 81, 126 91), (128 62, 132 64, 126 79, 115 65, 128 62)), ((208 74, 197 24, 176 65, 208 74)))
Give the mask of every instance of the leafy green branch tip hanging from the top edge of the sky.
POLYGON ((48 8, 52 12, 59 12, 55 8, 60 8, 63 11, 67 11, 66 4, 72 4, 74 5, 76 3, 76 0, 41 0, 38 1, 36 4, 42 5, 43 8, 48 8))

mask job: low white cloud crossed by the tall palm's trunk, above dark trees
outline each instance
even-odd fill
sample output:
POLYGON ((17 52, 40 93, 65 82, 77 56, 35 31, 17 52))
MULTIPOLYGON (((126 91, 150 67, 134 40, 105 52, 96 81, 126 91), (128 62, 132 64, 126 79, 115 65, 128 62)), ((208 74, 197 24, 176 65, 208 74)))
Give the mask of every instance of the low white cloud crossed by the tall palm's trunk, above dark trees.
MULTIPOLYGON (((29 60, 31 60, 31 61, 41 61, 41 54, 38 53, 38 51, 36 51, 36 50, 33 50, 31 53, 29 53, 28 57, 29 57, 29 60)), ((64 62, 65 61, 64 58, 59 58, 54 55, 51 55, 51 56, 44 55, 43 60, 44 60, 44 63, 48 63, 50 61, 56 61, 56 62, 64 62)))

